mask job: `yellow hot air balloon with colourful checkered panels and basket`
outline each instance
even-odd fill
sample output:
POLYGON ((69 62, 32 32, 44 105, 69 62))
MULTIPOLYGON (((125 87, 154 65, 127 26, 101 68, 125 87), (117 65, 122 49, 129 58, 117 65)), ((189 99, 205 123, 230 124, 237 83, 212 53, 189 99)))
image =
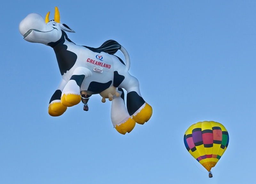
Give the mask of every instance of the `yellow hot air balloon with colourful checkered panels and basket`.
POLYGON ((228 147, 228 131, 214 121, 203 121, 191 125, 184 135, 188 152, 209 172, 220 160, 228 147))

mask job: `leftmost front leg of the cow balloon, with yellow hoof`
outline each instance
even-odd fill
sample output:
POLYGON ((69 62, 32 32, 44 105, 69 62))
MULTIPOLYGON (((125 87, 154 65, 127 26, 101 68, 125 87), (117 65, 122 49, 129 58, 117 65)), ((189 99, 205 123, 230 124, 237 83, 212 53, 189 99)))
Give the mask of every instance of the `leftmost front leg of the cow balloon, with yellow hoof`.
POLYGON ((50 116, 60 116, 67 110, 67 107, 60 102, 61 93, 66 84, 67 82, 62 80, 59 87, 52 95, 48 108, 48 113, 50 116))

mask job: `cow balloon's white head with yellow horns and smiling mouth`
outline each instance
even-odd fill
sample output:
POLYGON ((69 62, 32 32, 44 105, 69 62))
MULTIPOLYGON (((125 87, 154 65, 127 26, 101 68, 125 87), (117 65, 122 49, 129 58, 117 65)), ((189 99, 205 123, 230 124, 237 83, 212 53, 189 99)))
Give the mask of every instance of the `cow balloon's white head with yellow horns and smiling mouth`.
POLYGON ((20 34, 24 39, 33 43, 48 45, 58 41, 63 31, 74 32, 67 25, 60 23, 60 13, 55 7, 54 20, 49 20, 50 11, 45 19, 38 13, 30 13, 19 25, 20 34))

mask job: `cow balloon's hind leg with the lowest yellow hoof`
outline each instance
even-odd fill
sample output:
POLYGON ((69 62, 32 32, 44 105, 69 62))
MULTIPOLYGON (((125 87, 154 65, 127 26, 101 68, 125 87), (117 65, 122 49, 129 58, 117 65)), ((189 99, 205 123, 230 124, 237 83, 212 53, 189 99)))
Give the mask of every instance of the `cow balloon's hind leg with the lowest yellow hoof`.
POLYGON ((119 133, 130 133, 136 123, 129 115, 125 107, 123 89, 118 88, 117 92, 120 93, 121 96, 113 96, 113 100, 111 103, 111 121, 113 126, 119 133))

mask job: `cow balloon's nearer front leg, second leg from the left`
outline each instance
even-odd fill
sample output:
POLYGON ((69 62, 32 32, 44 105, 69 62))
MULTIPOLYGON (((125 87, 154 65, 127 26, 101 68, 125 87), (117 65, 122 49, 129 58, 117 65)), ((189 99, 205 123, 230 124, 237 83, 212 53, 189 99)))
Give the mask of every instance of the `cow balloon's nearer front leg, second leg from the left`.
POLYGON ((80 88, 83 80, 92 75, 92 72, 85 67, 77 67, 64 87, 61 94, 61 103, 66 107, 71 107, 81 101, 80 88))

